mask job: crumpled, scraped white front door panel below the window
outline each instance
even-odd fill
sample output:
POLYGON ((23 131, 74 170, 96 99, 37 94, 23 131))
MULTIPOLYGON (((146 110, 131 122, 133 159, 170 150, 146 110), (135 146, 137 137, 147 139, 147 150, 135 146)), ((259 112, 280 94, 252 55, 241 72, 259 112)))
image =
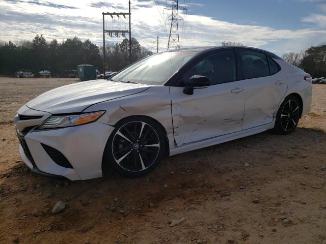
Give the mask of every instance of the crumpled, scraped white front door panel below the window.
POLYGON ((233 84, 194 90, 183 94, 171 87, 172 116, 178 146, 241 131, 244 95, 230 93, 233 84))

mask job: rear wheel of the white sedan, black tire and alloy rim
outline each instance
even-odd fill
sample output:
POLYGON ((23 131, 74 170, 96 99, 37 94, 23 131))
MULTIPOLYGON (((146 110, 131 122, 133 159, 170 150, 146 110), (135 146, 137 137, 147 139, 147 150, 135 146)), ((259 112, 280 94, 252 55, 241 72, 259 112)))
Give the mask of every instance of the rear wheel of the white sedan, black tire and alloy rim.
POLYGON ((298 124, 301 111, 300 102, 295 96, 286 97, 276 114, 274 132, 280 135, 292 133, 298 124))

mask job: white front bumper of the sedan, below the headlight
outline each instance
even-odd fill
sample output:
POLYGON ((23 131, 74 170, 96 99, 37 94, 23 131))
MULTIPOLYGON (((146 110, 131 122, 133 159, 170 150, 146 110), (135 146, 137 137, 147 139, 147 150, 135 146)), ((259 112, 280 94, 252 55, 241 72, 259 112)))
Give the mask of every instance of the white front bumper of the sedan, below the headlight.
POLYGON ((98 121, 82 126, 55 130, 30 131, 19 135, 19 153, 32 172, 64 176, 70 180, 102 176, 102 156, 114 128, 98 121), (43 145, 60 151, 72 168, 54 162, 43 145), (24 147, 24 148, 23 148, 24 147))

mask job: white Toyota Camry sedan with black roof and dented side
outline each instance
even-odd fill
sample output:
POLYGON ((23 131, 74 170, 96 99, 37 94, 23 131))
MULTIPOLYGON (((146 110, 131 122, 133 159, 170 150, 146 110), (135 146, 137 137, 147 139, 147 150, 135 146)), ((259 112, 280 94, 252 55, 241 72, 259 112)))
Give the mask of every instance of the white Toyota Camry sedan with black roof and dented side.
POLYGON ((158 53, 110 80, 62 86, 26 103, 15 116, 19 153, 43 175, 90 179, 112 169, 137 177, 165 156, 269 129, 291 133, 310 111, 311 82, 256 48, 158 53))

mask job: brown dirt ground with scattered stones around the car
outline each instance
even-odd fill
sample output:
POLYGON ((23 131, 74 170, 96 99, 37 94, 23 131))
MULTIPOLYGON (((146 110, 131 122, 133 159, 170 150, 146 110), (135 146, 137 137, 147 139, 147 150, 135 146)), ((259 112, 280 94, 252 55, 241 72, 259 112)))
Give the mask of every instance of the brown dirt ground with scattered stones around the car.
POLYGON ((0 243, 326 243, 326 85, 314 85, 311 113, 288 136, 173 156, 136 179, 31 174, 12 119, 76 81, 0 78, 0 243), (66 208, 52 215, 58 201, 66 208))

